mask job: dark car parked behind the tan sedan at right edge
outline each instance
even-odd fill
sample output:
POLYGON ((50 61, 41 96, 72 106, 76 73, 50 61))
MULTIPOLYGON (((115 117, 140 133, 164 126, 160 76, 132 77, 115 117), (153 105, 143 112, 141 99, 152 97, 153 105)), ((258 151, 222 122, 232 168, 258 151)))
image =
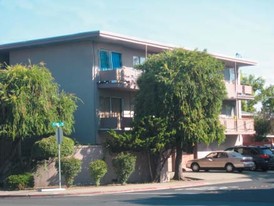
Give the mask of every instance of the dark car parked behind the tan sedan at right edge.
POLYGON ((225 149, 225 151, 238 152, 243 156, 253 158, 255 167, 252 170, 261 169, 267 171, 274 169, 274 155, 268 147, 264 146, 235 146, 225 149))

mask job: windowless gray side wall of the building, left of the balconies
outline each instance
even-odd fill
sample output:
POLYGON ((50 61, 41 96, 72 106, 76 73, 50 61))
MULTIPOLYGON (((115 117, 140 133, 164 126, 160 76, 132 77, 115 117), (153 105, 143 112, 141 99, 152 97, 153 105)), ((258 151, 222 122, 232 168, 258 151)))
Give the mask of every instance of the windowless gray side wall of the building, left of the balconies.
POLYGON ((92 59, 91 42, 33 47, 10 52, 11 65, 44 62, 60 88, 81 99, 75 113, 75 132, 72 136, 83 144, 96 143, 94 96, 97 85, 93 78, 92 59))

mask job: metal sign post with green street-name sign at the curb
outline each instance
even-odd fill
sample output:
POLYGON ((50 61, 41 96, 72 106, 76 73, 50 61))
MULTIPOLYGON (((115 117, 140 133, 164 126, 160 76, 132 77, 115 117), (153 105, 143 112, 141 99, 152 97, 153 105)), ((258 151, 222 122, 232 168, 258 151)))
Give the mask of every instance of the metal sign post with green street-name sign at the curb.
POLYGON ((63 122, 53 122, 53 127, 56 127, 56 142, 58 144, 58 170, 59 170, 59 189, 62 187, 62 179, 61 179, 61 143, 63 141, 63 130, 62 127, 64 126, 63 122))

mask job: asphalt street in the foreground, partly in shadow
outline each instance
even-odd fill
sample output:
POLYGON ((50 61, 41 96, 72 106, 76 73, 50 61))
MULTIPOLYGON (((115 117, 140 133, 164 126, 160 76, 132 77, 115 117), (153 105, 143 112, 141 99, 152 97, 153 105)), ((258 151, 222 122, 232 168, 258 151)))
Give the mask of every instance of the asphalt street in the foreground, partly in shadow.
MULTIPOLYGON (((2 198, 1 206, 75 206, 75 205, 273 205, 274 175, 250 172, 250 181, 182 187, 143 192, 124 192, 75 197, 2 198)), ((226 175, 225 173, 223 175, 226 175)))

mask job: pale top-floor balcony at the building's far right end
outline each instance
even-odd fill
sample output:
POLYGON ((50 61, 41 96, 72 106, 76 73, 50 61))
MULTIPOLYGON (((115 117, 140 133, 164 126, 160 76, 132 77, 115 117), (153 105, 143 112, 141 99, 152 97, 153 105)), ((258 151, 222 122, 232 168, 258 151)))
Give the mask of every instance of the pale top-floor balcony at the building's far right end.
POLYGON ((254 99, 252 87, 247 85, 236 85, 235 83, 225 82, 228 99, 254 99), (236 88, 237 87, 237 88, 236 88), (237 92, 236 92, 237 89, 237 92))

